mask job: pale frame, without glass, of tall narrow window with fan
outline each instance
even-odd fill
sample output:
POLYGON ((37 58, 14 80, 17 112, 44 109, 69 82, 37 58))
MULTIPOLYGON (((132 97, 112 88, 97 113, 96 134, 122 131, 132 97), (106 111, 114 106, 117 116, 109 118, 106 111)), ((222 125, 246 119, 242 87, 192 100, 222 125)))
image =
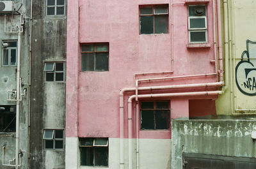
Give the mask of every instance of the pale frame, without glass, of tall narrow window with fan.
POLYGON ((208 27, 207 27, 207 4, 189 4, 188 5, 188 42, 190 44, 195 43, 208 43, 208 27), (189 16, 189 6, 204 6, 205 7, 205 16, 189 16), (190 27, 190 19, 193 18, 204 18, 205 19, 205 27, 199 27, 199 28, 191 28, 190 27), (196 32, 204 32, 205 33, 205 41, 191 41, 191 33, 196 32))

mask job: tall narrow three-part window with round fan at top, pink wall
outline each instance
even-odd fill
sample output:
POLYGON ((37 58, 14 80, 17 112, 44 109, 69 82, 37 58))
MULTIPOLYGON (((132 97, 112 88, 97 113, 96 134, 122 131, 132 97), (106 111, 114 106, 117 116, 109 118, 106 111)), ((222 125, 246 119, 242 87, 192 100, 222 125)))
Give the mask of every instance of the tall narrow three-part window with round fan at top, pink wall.
POLYGON ((207 43, 207 19, 205 5, 188 6, 189 43, 207 43))

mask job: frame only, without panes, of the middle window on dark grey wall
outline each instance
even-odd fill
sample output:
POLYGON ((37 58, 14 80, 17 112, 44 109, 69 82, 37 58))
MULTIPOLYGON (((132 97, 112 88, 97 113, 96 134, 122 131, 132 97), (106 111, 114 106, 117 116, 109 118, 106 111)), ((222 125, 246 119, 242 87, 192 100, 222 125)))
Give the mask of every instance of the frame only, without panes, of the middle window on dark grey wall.
POLYGON ((63 82, 65 82, 65 62, 63 62, 63 61, 49 61, 49 62, 44 62, 44 81, 45 82, 54 82, 54 83, 63 83, 63 82), (45 67, 46 67, 46 64, 47 63, 53 63, 54 65, 53 65, 53 70, 51 71, 51 70, 45 70, 45 67), (60 71, 60 70, 57 70, 56 71, 56 63, 63 63, 63 70, 62 71, 60 71), (52 81, 49 81, 49 80, 46 80, 46 74, 47 73, 54 73, 54 77, 53 77, 53 80, 52 81), (63 80, 56 80, 56 73, 63 73, 63 80))

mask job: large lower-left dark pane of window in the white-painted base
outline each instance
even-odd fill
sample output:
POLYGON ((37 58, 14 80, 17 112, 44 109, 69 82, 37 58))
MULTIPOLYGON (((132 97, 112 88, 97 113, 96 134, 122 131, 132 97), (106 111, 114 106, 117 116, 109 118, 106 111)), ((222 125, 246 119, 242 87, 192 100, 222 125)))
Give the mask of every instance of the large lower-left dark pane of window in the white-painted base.
POLYGON ((81 166, 93 166, 93 147, 80 147, 81 166))

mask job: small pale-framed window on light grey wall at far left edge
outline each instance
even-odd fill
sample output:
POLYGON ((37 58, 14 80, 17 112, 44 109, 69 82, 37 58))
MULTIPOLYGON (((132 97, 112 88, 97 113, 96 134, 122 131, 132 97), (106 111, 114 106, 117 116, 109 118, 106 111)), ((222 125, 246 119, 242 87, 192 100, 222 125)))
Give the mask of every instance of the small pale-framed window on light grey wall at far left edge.
POLYGON ((3 41, 2 65, 15 66, 17 60, 17 41, 3 41))

